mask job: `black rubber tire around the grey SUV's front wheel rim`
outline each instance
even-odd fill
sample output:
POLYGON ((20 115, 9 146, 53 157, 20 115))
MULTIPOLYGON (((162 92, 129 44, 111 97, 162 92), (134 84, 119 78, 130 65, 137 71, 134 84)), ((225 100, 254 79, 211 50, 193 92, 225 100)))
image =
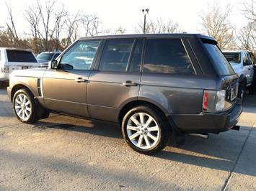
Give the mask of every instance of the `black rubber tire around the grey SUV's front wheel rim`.
POLYGON ((17 92, 14 93, 14 97, 13 97, 13 100, 12 100, 12 108, 14 110, 14 113, 15 115, 17 116, 17 118, 19 119, 19 121, 22 121, 22 123, 25 123, 25 124, 32 124, 32 123, 35 123, 35 121, 38 120, 38 116, 37 116, 37 101, 34 99, 34 95, 32 95, 32 93, 30 92, 30 90, 27 90, 27 89, 19 89, 17 90, 17 92), (29 115, 28 118, 26 119, 22 119, 19 117, 18 113, 17 113, 17 110, 15 109, 15 100, 17 98, 17 96, 19 95, 26 95, 27 96, 27 99, 30 101, 30 110, 31 110, 31 113, 29 115))

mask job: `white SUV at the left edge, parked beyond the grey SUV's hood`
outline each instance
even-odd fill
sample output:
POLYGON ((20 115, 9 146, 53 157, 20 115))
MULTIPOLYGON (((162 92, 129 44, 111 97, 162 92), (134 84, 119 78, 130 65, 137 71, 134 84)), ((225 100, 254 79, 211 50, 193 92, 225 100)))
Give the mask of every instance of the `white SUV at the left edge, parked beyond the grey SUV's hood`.
POLYGON ((0 67, 0 82, 4 82, 13 70, 38 67, 38 63, 32 50, 0 47, 0 67))

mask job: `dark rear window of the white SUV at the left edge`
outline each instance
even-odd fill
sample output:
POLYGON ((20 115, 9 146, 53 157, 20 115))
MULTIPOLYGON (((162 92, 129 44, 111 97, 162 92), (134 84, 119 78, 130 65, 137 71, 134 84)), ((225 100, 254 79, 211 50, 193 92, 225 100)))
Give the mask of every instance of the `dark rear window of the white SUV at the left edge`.
POLYGON ((32 52, 22 50, 6 50, 9 62, 37 62, 32 52))

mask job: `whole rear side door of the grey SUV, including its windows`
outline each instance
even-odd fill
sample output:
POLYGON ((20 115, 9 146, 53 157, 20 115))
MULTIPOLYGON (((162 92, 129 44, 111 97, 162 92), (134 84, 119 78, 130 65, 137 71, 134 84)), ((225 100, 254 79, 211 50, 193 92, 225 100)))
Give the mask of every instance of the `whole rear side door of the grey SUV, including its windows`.
POLYGON ((118 121, 120 107, 138 98, 143 39, 107 39, 99 65, 89 76, 89 115, 118 121))

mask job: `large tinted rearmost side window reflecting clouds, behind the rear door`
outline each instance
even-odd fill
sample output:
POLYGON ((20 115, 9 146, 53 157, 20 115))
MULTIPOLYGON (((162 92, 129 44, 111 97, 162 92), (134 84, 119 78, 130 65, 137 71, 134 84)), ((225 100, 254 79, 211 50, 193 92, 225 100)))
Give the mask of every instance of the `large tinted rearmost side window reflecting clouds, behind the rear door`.
POLYGON ((177 75, 195 74, 180 39, 148 39, 144 72, 177 75))

